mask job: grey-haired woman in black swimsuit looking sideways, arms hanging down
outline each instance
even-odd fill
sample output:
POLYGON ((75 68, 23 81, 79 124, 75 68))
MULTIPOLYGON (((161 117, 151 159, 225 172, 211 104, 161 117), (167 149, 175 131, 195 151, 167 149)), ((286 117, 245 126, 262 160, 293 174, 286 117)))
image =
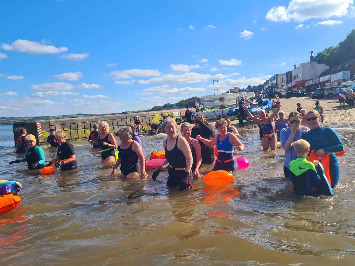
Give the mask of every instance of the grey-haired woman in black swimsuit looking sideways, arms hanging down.
POLYGON ((121 175, 123 177, 135 177, 139 173, 137 171, 137 161, 141 162, 141 177, 146 178, 146 161, 144 160, 141 145, 132 140, 132 128, 123 126, 118 129, 119 138, 121 140, 121 148, 118 153, 118 159, 113 167, 111 176, 116 173, 116 169, 120 166, 121 175))

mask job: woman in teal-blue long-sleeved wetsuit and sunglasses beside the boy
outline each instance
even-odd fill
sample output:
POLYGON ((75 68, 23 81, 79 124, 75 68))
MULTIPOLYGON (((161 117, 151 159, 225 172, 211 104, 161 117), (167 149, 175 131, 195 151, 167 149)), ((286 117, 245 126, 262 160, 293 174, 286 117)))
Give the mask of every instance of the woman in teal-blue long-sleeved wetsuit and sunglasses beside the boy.
POLYGON ((331 187, 334 188, 339 183, 340 176, 337 156, 334 153, 342 151, 344 144, 334 129, 323 127, 321 115, 318 111, 309 111, 307 113, 307 122, 310 131, 302 132, 305 133, 302 135, 302 139, 311 145, 310 150, 315 150, 317 156, 329 155, 329 175, 332 181, 331 187))

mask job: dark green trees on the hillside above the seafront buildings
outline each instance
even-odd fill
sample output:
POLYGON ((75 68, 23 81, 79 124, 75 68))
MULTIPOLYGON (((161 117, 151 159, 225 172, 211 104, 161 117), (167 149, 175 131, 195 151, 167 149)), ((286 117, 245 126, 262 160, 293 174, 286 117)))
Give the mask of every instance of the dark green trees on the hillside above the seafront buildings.
POLYGON ((355 29, 353 29, 337 46, 331 46, 318 52, 315 61, 333 67, 355 58, 355 29))

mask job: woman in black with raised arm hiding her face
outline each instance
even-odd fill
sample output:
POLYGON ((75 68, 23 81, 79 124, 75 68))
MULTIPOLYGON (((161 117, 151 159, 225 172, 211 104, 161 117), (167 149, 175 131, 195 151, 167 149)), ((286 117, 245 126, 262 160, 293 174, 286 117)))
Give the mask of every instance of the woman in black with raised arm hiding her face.
MULTIPOLYGON (((204 115, 197 113, 193 116, 193 121, 195 122, 195 126, 191 129, 191 138, 196 139, 197 135, 200 135, 204 139, 212 140, 214 137, 214 128, 206 121, 204 115)), ((204 144, 200 140, 199 142, 201 146, 202 164, 213 164, 214 148, 204 144)))

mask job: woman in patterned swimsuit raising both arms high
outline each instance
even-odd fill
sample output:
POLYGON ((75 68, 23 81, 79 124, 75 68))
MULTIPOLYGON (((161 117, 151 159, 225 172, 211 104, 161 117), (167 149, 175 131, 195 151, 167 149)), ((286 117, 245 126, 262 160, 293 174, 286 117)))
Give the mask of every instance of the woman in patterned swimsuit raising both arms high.
POLYGON ((274 132, 274 119, 277 116, 277 113, 280 111, 280 99, 279 96, 275 94, 275 100, 276 100, 276 111, 271 115, 267 116, 266 112, 264 109, 260 109, 258 111, 258 115, 260 118, 256 118, 253 116, 249 110, 247 109, 246 104, 243 104, 243 108, 247 115, 255 122, 260 124, 262 130, 263 130, 263 138, 262 138, 262 143, 263 143, 263 150, 267 151, 269 149, 271 150, 276 150, 277 148, 277 140, 275 137, 275 132, 274 132))

